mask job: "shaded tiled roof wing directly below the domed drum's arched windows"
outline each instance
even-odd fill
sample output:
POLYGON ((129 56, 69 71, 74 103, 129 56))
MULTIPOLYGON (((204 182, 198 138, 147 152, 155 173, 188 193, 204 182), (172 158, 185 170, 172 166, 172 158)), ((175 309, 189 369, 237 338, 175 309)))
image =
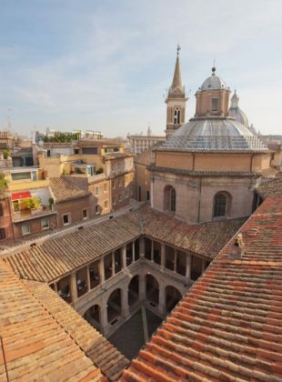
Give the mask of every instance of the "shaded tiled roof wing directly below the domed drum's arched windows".
POLYGON ((149 206, 142 209, 142 216, 146 236, 209 258, 214 258, 246 221, 238 218, 188 225, 149 206))

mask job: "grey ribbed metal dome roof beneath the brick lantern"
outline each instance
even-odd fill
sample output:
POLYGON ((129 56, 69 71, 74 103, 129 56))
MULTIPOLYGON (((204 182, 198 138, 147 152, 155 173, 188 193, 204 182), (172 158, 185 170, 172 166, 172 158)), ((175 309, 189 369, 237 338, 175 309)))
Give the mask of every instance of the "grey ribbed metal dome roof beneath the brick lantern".
POLYGON ((228 117, 192 118, 160 147, 180 151, 253 151, 266 147, 247 126, 228 117))

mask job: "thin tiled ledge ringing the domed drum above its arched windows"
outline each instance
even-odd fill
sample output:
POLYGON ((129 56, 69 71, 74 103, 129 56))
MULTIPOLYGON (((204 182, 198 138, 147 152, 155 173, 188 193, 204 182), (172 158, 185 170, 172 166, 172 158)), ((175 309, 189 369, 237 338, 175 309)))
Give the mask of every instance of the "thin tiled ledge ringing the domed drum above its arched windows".
POLYGON ((170 168, 150 165, 147 167, 151 171, 158 171, 161 173, 173 173, 186 176, 261 176, 261 173, 256 171, 209 171, 209 170, 184 170, 181 168, 170 168))

